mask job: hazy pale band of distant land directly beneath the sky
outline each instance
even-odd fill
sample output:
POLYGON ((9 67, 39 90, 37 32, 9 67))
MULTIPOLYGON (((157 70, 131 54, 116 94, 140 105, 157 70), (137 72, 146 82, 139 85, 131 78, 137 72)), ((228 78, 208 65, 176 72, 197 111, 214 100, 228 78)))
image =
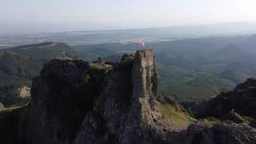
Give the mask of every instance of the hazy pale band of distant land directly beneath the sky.
POLYGON ((162 42, 183 38, 205 38, 254 34, 256 23, 233 22, 202 26, 172 26, 128 30, 66 31, 42 34, 0 34, 1 46, 19 46, 30 43, 65 42, 69 45, 92 45, 102 43, 162 42))

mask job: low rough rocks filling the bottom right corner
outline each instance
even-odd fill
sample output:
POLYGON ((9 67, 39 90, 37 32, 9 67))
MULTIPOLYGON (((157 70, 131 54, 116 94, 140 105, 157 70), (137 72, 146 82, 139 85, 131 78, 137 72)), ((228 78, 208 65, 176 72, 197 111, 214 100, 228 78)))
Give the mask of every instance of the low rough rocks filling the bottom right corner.
POLYGON ((253 144, 256 142, 256 130, 244 124, 216 122, 212 126, 207 122, 197 122, 186 130, 185 143, 190 144, 253 144))

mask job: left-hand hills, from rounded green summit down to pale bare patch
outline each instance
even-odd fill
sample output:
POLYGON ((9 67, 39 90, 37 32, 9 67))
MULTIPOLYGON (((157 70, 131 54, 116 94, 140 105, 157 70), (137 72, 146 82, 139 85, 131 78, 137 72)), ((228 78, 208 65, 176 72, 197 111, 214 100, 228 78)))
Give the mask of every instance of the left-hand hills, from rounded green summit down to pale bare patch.
POLYGON ((43 42, 0 51, 0 102, 6 107, 22 106, 30 100, 32 78, 53 58, 82 57, 61 42, 43 42))

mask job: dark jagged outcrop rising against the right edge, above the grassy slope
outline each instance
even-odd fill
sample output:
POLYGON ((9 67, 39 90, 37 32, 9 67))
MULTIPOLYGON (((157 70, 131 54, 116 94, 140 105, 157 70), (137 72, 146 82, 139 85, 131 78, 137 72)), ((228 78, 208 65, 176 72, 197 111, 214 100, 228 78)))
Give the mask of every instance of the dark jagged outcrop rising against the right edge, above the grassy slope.
POLYGON ((216 98, 202 102, 195 110, 199 118, 213 116, 222 118, 231 110, 242 116, 256 115, 256 79, 248 78, 234 90, 222 92, 216 98))

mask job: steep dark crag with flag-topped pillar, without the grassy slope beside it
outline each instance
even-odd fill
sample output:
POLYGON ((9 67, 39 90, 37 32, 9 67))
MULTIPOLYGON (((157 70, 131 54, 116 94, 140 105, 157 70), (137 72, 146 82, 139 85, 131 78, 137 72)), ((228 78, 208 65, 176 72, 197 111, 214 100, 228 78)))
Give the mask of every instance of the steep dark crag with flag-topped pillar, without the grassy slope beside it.
MULTIPOLYGON (((158 99, 153 51, 130 57, 114 68, 75 59, 46 63, 34 78, 30 125, 19 138, 26 143, 161 142, 167 131, 184 129, 168 125, 158 110, 166 102, 158 99)), ((174 111, 190 122, 178 105, 174 111)))

